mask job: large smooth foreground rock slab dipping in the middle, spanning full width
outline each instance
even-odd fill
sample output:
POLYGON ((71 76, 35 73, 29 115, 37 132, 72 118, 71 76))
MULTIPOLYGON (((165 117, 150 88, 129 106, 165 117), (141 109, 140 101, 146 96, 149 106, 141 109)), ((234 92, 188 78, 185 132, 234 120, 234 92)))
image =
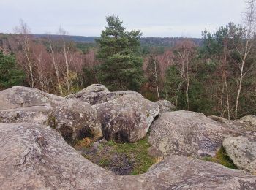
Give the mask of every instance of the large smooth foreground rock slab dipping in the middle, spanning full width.
POLYGON ((118 176, 36 123, 0 123, 0 189, 255 189, 256 176, 171 156, 143 175, 118 176))

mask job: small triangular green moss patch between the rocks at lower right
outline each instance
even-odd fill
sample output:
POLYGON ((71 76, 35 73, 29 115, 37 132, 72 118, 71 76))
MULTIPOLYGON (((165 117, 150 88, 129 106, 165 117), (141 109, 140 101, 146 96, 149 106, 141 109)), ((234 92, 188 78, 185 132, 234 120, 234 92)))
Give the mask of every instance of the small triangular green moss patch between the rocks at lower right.
POLYGON ((215 157, 208 156, 203 158, 203 160, 216 162, 216 163, 222 164, 225 167, 237 169, 236 165, 233 163, 230 157, 227 156, 227 153, 223 146, 219 148, 219 151, 217 151, 215 157))

